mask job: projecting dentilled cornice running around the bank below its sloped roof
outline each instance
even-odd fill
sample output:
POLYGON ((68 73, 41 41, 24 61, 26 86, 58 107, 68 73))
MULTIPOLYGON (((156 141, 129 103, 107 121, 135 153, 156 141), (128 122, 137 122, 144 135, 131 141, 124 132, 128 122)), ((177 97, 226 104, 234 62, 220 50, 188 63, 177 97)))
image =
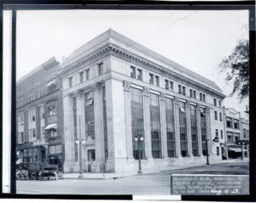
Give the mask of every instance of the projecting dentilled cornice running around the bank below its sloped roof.
POLYGON ((73 70, 75 68, 80 67, 81 65, 84 65, 86 62, 89 62, 92 59, 96 59, 97 57, 101 56, 102 54, 106 53, 111 54, 118 54, 122 57, 125 57, 126 59, 129 59, 130 61, 134 61, 137 63, 140 63, 144 66, 146 66, 149 70, 152 71, 160 71, 162 74, 171 76, 172 78, 175 78, 181 82, 186 82, 191 86, 199 87, 202 90, 204 90, 207 93, 211 93, 214 95, 218 95, 219 98, 224 99, 225 95, 223 93, 219 93, 218 91, 211 89, 210 87, 207 87, 199 82, 191 81, 191 79, 182 76, 181 74, 178 74, 176 72, 173 72, 172 70, 168 70, 166 67, 163 67, 161 65, 156 65, 154 62, 150 61, 149 59, 144 59, 142 56, 139 56, 137 54, 132 54, 128 50, 124 50, 123 48, 119 48, 117 45, 114 45, 112 43, 109 43, 107 47, 97 50, 94 54, 88 54, 84 56, 82 59, 79 59, 75 62, 73 62, 71 65, 67 65, 64 70, 61 70, 58 72, 58 75, 62 75, 64 73, 67 73, 70 70, 73 70))

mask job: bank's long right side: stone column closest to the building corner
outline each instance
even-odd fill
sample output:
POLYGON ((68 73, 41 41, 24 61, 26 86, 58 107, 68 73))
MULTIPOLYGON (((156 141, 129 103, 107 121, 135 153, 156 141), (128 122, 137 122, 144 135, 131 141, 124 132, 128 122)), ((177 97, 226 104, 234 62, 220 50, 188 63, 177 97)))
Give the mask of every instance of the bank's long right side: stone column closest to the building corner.
POLYGON ((126 130, 126 159, 134 160, 132 149, 132 127, 131 127, 131 82, 124 81, 125 91, 125 130, 126 130))

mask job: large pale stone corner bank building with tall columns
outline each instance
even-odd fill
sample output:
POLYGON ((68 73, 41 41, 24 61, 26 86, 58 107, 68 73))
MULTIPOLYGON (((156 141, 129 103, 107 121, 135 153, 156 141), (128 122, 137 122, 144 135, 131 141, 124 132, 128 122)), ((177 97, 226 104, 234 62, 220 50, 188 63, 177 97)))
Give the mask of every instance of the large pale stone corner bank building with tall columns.
POLYGON ((221 160, 211 119, 225 96, 207 78, 111 29, 76 49, 59 75, 65 172, 79 171, 77 139, 84 172, 137 171, 138 134, 143 169, 205 162, 207 139, 210 161, 221 160))

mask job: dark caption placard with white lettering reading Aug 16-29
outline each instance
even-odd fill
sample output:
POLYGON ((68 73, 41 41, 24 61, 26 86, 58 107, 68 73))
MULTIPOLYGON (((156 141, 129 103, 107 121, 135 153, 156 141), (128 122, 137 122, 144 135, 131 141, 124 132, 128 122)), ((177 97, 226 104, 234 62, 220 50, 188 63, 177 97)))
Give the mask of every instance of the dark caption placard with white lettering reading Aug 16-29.
POLYGON ((171 195, 249 195, 249 176, 172 174, 171 195))

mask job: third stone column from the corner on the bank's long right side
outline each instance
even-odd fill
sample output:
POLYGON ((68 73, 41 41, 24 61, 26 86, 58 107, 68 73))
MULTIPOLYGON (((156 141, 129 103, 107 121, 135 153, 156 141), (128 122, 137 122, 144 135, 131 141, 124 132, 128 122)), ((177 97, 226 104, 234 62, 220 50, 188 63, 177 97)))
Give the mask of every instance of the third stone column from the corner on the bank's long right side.
POLYGON ((161 146, 162 157, 168 158, 167 151, 167 135, 166 135, 166 93, 160 93, 160 130, 161 130, 161 146))

